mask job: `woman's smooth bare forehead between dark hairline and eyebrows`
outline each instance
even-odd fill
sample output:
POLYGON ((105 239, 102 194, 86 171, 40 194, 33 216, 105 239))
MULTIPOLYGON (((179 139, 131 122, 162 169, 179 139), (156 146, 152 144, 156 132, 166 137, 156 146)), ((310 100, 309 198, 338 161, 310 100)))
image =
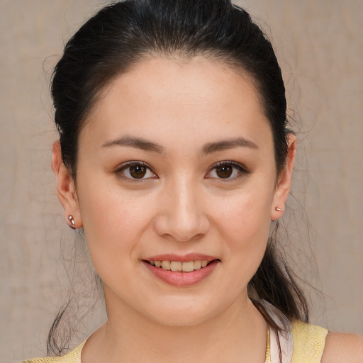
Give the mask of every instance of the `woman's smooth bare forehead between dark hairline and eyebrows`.
POLYGON ((136 133, 196 142, 200 134, 208 142, 220 133, 271 133, 250 75, 203 57, 139 62, 106 86, 87 121, 82 133, 99 139, 136 133))

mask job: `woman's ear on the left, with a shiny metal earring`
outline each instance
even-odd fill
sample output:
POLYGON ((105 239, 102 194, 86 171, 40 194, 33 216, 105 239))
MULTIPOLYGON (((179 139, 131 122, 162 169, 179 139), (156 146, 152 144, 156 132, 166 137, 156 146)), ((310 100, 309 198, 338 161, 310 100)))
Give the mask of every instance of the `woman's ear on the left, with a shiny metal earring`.
POLYGON ((67 167, 62 161, 62 150, 60 148, 60 141, 53 144, 52 149, 52 170, 57 180, 57 194, 60 203, 65 208, 65 218, 67 224, 72 227, 69 221, 69 216, 74 219, 74 228, 82 227, 81 212, 79 210, 79 203, 74 186, 74 180, 67 167))

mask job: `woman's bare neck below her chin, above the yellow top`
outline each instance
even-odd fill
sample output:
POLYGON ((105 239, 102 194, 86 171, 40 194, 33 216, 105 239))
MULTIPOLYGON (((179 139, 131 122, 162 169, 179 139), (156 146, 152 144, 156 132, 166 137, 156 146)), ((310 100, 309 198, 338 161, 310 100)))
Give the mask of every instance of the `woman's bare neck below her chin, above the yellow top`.
POLYGON ((202 323, 170 326, 107 303, 108 320, 87 340, 82 363, 264 362, 267 325, 245 296, 202 323))

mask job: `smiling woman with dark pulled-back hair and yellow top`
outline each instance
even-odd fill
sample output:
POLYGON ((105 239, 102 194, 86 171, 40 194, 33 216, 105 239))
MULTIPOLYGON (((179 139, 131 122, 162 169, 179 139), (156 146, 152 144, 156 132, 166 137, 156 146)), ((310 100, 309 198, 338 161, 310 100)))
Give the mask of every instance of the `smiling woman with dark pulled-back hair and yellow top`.
POLYGON ((307 324, 275 252, 296 138, 245 11, 108 6, 67 43, 52 97, 58 196, 108 316, 58 362, 362 362, 361 337, 307 324))

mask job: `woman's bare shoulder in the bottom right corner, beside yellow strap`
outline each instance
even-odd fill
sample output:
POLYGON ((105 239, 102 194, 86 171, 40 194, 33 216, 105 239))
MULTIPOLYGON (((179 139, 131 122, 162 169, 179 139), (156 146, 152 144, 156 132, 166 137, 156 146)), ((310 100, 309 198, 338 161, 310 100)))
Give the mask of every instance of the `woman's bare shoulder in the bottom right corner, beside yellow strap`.
POLYGON ((363 363, 363 337, 347 333, 328 333, 321 363, 363 363))

